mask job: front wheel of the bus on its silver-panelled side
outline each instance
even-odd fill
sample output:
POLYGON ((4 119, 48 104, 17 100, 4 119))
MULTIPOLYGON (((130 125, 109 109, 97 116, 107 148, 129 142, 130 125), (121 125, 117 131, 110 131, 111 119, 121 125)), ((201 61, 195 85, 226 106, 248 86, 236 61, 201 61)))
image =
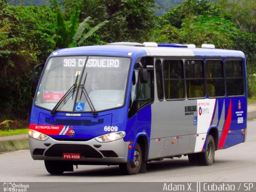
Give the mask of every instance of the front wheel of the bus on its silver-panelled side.
POLYGON ((140 145, 136 143, 133 162, 119 164, 119 168, 125 174, 135 175, 140 171, 141 164, 142 164, 142 151, 141 151, 140 145))

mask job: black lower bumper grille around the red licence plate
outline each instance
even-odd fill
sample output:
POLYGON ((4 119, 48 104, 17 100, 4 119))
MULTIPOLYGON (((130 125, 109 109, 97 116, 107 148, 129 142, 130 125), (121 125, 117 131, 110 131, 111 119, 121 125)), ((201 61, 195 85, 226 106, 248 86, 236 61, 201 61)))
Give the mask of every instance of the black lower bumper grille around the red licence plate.
POLYGON ((46 152, 47 157, 62 157, 63 153, 79 153, 85 158, 102 158, 102 155, 89 145, 55 144, 46 152))

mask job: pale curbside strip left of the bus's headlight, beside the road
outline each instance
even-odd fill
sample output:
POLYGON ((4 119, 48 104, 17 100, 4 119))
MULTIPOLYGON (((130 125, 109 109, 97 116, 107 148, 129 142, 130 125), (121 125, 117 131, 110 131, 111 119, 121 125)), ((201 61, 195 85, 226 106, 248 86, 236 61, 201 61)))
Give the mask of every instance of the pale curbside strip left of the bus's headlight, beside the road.
POLYGON ((0 141, 0 152, 22 150, 22 149, 28 149, 28 148, 29 148, 28 138, 0 141))

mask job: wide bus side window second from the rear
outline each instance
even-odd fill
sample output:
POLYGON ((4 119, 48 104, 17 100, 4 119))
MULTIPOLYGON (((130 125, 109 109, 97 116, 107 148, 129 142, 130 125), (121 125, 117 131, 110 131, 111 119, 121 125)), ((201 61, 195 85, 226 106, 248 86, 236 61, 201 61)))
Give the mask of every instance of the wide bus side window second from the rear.
POLYGON ((225 96, 222 60, 206 60, 206 90, 209 98, 225 96))

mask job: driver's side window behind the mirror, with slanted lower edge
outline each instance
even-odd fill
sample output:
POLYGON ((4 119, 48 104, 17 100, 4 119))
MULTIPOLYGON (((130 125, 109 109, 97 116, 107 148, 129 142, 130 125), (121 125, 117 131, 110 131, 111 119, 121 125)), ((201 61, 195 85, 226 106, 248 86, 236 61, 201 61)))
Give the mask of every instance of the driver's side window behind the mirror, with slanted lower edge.
POLYGON ((138 109, 154 100, 154 75, 153 70, 148 70, 148 82, 141 83, 138 78, 138 109))

